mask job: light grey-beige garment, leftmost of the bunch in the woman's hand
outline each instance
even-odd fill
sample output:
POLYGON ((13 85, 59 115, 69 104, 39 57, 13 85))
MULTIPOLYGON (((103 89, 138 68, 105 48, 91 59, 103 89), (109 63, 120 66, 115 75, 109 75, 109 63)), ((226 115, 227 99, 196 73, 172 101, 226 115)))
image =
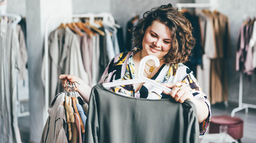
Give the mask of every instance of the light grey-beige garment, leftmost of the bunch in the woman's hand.
POLYGON ((59 93, 48 109, 49 117, 44 126, 40 143, 68 143, 66 136, 65 93, 59 93))

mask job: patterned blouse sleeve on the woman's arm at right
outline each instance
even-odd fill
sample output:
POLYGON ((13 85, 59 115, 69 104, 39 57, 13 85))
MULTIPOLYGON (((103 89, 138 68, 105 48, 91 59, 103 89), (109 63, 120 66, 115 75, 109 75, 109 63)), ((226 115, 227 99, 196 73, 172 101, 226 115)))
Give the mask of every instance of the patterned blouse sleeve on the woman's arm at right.
MULTIPOLYGON (((199 123, 200 135, 204 135, 208 129, 208 126, 209 126, 210 120, 211 120, 210 102, 209 102, 209 100, 207 100, 206 95, 203 93, 202 88, 199 86, 199 83, 197 82, 197 79, 195 78, 193 71, 190 71, 190 73, 188 73, 185 76, 185 78, 182 80, 182 82, 185 82, 186 84, 188 84, 189 90, 191 91, 191 93, 194 95, 195 98, 197 98, 199 100, 203 100, 208 106, 209 114, 208 114, 207 119, 205 121, 199 123)), ((197 112, 200 112, 200 110, 197 112)))

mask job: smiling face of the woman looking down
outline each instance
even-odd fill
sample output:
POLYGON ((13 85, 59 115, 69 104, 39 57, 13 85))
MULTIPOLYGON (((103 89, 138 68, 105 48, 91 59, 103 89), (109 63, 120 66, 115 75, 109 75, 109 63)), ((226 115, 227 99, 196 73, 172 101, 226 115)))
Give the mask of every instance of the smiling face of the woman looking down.
POLYGON ((171 32, 160 22, 153 22, 144 34, 142 41, 142 56, 154 55, 163 58, 171 46, 171 32))

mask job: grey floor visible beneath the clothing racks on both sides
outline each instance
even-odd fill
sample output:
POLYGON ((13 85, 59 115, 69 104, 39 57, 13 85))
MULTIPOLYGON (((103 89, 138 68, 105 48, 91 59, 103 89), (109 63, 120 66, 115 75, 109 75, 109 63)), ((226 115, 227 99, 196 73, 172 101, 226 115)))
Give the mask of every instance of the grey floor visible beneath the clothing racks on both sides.
MULTIPOLYGON (((238 104, 228 104, 228 107, 225 107, 224 103, 217 103, 215 105, 212 105, 212 116, 231 115, 232 110, 238 107, 238 104)), ((245 114, 245 110, 236 112, 235 117, 239 117, 244 120, 244 136, 242 138, 242 143, 256 143, 256 109, 249 108, 247 115, 245 114)), ((18 123, 21 134, 21 140, 23 143, 28 143, 30 130, 29 116, 19 118, 18 123)))

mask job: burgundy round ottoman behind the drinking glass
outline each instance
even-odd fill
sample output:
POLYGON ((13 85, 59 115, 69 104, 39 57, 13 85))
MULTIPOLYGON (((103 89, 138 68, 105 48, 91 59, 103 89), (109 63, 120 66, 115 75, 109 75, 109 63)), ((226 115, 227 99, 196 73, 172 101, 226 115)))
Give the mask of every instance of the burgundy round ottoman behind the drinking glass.
POLYGON ((219 133, 220 125, 227 125, 227 133, 234 139, 241 139, 243 137, 244 121, 242 119, 230 116, 211 117, 209 126, 210 134, 219 133))

